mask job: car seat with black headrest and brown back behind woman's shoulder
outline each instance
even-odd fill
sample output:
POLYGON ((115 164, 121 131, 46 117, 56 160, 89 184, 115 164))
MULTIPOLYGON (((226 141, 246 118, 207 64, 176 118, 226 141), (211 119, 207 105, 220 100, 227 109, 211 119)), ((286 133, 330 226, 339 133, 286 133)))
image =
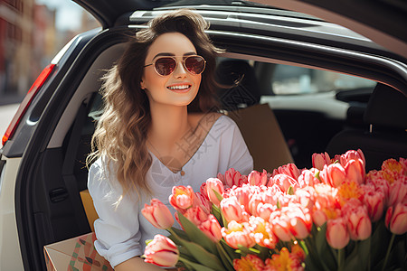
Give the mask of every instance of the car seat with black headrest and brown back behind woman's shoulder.
POLYGON ((254 169, 272 172, 293 163, 279 123, 268 104, 259 104, 260 87, 248 61, 226 60, 218 64, 216 76, 222 88, 222 109, 241 130, 254 160, 254 169))

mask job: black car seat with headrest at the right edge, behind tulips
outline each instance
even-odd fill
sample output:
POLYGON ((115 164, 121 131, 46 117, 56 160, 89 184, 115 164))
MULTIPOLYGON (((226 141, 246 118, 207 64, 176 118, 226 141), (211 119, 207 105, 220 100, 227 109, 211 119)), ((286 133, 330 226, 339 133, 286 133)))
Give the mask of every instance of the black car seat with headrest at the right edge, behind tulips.
POLYGON ((407 157, 407 97, 378 83, 364 111, 368 129, 348 129, 334 136, 327 145, 331 156, 360 148, 366 170, 380 169, 384 160, 407 157))

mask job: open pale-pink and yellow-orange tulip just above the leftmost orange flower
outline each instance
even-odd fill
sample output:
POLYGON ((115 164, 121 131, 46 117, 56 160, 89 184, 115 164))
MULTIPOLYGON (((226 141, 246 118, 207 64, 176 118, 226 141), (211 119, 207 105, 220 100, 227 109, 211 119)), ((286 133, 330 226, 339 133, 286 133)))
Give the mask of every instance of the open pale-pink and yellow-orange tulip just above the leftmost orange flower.
POLYGON ((249 227, 249 223, 247 222, 240 224, 232 220, 229 222, 227 229, 224 227, 222 228, 222 237, 232 248, 238 249, 238 245, 245 248, 251 248, 256 242, 250 235, 251 231, 249 227))

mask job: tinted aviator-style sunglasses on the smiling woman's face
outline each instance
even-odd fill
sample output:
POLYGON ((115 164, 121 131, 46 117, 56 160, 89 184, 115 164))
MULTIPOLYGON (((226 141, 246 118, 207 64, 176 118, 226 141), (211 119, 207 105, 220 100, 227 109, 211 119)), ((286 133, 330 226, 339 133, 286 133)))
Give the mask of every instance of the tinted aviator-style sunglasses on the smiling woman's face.
MULTIPOLYGON (((191 74, 198 75, 205 70, 206 61, 200 55, 187 56, 181 62, 183 63, 185 70, 188 70, 191 74)), ((168 76, 175 71, 177 64, 178 61, 176 61, 175 56, 164 56, 157 58, 151 64, 147 64, 144 68, 154 65, 156 73, 161 76, 168 76)))

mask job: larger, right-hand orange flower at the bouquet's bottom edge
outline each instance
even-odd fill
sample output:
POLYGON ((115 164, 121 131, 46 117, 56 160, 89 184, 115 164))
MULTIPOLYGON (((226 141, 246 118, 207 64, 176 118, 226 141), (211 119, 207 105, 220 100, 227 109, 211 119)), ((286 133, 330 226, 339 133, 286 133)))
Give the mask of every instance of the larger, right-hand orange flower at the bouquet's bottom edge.
POLYGON ((301 248, 299 247, 294 248, 295 251, 293 251, 293 253, 289 253, 289 249, 281 248, 279 254, 273 254, 271 258, 268 258, 266 260, 266 266, 264 270, 265 271, 304 270, 304 266, 301 265, 303 261, 303 255, 299 253, 299 249, 301 248))

